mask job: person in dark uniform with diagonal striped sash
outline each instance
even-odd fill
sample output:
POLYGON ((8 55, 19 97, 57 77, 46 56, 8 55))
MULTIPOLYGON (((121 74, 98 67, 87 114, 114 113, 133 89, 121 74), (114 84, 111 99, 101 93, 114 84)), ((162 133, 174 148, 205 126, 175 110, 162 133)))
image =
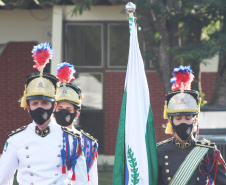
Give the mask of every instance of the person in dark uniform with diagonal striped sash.
POLYGON ((158 185, 225 185, 226 168, 214 143, 193 137, 200 110, 190 66, 175 68, 172 91, 166 95, 166 133, 174 137, 157 144, 158 185))

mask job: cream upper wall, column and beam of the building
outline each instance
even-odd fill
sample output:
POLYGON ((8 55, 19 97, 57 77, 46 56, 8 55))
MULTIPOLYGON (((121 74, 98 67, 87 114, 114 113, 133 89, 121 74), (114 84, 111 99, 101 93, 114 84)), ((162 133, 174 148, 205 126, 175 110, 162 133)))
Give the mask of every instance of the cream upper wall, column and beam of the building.
MULTIPOLYGON (((62 62, 63 21, 125 21, 127 14, 121 13, 120 6, 95 6, 82 15, 73 15, 74 6, 54 6, 53 9, 40 10, 1 10, 0 11, 0 46, 7 42, 36 41, 50 42, 54 57, 51 72, 55 74, 56 65, 62 62)), ((139 20, 138 20, 139 21, 139 20)), ((0 47, 1 49, 1 47, 0 47)), ((205 61, 202 72, 216 72, 218 56, 205 61)))

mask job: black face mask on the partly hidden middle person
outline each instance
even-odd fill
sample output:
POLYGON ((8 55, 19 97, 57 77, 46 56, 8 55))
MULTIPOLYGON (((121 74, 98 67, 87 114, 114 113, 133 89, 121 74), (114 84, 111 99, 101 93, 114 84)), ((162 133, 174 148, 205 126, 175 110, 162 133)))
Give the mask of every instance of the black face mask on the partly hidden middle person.
POLYGON ((56 119, 56 122, 64 127, 67 127, 72 124, 73 120, 75 119, 75 116, 77 115, 77 111, 74 113, 70 113, 66 109, 62 109, 58 112, 54 112, 54 116, 56 119))

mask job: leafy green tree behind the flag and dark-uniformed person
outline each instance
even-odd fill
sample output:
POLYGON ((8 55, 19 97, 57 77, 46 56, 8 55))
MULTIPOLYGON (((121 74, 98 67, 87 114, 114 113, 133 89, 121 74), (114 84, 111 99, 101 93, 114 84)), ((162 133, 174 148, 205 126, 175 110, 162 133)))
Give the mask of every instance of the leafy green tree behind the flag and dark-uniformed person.
MULTIPOLYGON (((121 1, 115 1, 123 3, 121 1)), ((196 79, 192 89, 202 93, 200 64, 204 59, 212 58, 219 53, 219 67, 213 104, 226 105, 225 78, 225 36, 223 0, 135 0, 138 23, 146 41, 147 60, 151 60, 165 91, 169 91, 171 71, 174 67, 191 65, 196 79), (214 33, 203 30, 217 21, 222 24, 221 31, 214 33), (221 36, 220 36, 221 35, 221 36), (225 101, 223 101, 225 100, 225 101)), ((74 13, 81 14, 95 4, 90 0, 81 0, 74 13)), ((213 26, 212 26, 213 27, 213 26)), ((215 26, 214 26, 215 27, 215 26)))

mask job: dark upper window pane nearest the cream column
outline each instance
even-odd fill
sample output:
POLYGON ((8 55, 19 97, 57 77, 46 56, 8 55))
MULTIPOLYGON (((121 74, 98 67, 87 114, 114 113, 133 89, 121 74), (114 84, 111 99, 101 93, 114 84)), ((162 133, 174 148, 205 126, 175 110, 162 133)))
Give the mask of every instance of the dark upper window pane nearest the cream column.
POLYGON ((102 25, 66 24, 65 55, 75 66, 102 66, 102 25))

